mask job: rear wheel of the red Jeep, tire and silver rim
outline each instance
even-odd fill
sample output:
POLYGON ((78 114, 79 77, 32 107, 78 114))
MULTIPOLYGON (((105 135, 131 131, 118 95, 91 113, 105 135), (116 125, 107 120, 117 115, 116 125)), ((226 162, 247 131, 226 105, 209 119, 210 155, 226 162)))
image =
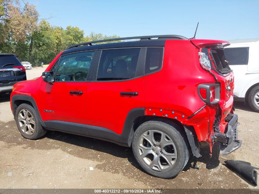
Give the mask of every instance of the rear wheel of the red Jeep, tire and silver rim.
POLYGON ((150 175, 176 177, 189 160, 185 134, 175 123, 147 121, 134 133, 132 150, 139 165, 150 175))

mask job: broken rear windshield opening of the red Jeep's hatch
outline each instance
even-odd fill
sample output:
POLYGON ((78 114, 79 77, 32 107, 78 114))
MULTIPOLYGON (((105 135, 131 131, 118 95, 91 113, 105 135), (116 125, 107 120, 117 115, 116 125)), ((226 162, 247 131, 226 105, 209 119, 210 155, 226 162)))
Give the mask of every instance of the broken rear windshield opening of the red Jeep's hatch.
POLYGON ((219 73, 227 74, 232 71, 224 55, 224 48, 212 48, 210 53, 211 53, 211 58, 215 64, 215 69, 219 73))

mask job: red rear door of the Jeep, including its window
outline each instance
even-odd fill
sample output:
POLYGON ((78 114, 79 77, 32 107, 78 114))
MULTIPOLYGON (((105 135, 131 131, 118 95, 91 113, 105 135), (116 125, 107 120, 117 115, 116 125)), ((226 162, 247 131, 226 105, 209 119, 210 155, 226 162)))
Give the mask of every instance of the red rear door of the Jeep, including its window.
POLYGON ((121 134, 128 113, 144 107, 145 52, 146 48, 98 51, 99 65, 94 67, 86 97, 88 135, 105 138, 101 131, 107 129, 121 134))

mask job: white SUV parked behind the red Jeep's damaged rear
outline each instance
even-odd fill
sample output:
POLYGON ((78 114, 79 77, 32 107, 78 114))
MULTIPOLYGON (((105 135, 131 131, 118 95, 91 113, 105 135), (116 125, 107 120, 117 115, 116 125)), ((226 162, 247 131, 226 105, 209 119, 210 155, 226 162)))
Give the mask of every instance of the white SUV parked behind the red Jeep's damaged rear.
POLYGON ((234 100, 259 112, 259 39, 230 40, 224 53, 234 71, 234 100))

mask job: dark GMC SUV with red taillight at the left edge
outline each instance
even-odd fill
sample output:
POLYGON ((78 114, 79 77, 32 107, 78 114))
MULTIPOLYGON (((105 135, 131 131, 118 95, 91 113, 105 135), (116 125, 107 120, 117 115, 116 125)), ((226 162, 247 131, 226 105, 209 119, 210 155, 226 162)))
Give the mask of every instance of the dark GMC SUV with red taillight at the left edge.
POLYGON ((26 80, 25 68, 12 54, 0 54, 0 87, 13 86, 26 80))

